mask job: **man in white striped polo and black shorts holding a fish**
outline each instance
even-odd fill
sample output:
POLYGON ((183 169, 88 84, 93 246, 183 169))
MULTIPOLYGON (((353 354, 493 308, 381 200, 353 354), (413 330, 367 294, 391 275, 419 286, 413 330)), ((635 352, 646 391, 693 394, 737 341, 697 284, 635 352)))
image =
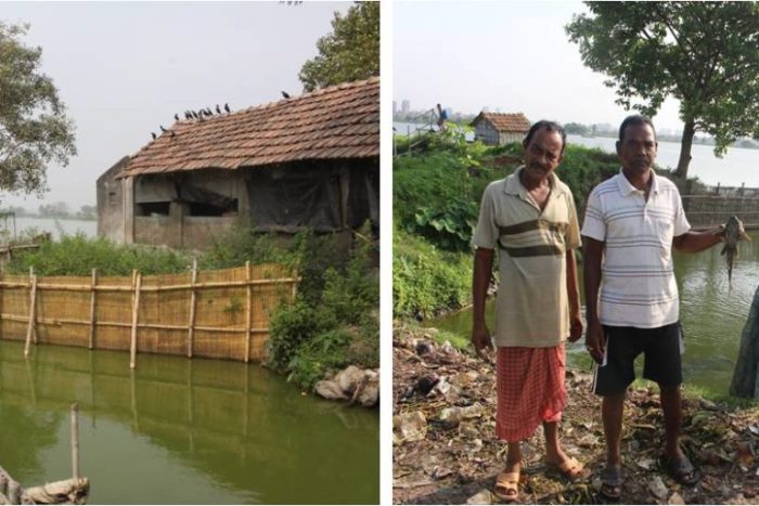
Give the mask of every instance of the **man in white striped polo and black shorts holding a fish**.
POLYGON ((672 246, 700 251, 722 241, 721 229, 692 232, 677 186, 654 173, 656 132, 644 116, 619 127, 620 172, 593 189, 582 224, 588 335, 596 362, 593 391, 603 395, 606 467, 601 493, 622 490, 625 394, 643 353, 643 377, 659 386, 665 415, 667 470, 683 484, 698 475, 679 444, 682 333, 672 246))

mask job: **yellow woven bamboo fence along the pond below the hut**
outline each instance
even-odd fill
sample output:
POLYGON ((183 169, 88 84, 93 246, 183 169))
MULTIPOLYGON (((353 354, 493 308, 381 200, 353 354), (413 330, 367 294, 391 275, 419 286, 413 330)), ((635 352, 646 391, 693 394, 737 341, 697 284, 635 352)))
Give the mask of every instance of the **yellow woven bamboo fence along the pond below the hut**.
POLYGON ((265 358, 269 316, 297 278, 282 265, 131 277, 0 275, 0 338, 248 362, 265 358))

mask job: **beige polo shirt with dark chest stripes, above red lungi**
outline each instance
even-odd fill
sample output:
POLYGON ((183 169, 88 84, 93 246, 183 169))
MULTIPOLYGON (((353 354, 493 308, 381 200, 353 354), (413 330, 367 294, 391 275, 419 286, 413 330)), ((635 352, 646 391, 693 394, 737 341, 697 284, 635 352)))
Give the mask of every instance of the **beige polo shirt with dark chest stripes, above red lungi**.
POLYGON ((569 335, 565 254, 580 245, 580 225, 566 184, 551 176, 541 211, 522 169, 485 190, 472 245, 498 248, 496 345, 546 348, 569 335))

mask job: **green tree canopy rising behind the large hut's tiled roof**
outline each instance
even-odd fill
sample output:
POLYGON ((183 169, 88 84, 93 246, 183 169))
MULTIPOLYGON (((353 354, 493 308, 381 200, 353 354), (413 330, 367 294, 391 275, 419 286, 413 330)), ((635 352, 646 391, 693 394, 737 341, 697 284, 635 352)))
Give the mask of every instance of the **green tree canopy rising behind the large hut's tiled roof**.
POLYGON ((335 12, 332 30, 300 68, 306 91, 380 75, 380 2, 356 2, 345 17, 335 12))

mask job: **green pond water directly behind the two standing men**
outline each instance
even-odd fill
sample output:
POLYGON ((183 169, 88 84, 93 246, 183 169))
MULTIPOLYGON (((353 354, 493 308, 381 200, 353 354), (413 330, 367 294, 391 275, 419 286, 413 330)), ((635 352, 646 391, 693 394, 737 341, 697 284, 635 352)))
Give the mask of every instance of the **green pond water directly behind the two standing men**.
MULTIPOLYGON (((749 232, 752 242, 741 242, 739 257, 733 269, 732 285, 728 267, 718 245, 698 254, 674 254, 674 271, 680 289, 680 321, 685 332, 684 381, 712 394, 726 394, 741 343, 741 333, 759 287, 759 232, 749 232)), ((582 270, 578 273, 582 284, 582 270)), ((584 301, 584 295, 582 295, 584 301)), ((492 332, 492 301, 487 315, 492 332)), ((584 317, 584 312, 583 312, 584 317)), ((425 325, 468 338, 472 312, 464 310, 425 325)), ((567 346, 570 367, 590 371, 591 360, 583 339, 567 346)), ((642 369, 642 358, 636 365, 642 369)))

